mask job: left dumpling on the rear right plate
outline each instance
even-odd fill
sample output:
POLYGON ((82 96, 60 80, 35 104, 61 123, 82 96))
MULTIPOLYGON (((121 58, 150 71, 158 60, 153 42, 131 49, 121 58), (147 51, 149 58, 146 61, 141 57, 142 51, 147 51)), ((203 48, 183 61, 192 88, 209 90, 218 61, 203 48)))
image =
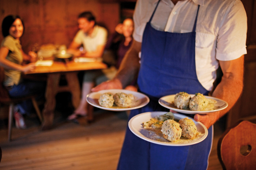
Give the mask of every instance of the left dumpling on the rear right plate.
POLYGON ((190 95, 186 92, 177 93, 174 97, 174 105, 178 109, 187 109, 189 108, 190 99, 190 95))

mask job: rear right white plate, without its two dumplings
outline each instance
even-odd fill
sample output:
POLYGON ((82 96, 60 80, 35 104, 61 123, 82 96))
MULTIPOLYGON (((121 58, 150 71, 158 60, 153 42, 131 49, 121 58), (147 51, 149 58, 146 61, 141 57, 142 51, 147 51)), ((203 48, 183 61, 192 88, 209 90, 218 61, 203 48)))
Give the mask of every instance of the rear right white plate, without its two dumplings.
MULTIPOLYGON (((194 95, 190 94, 191 98, 194 97, 194 95)), ((158 100, 158 103, 160 105, 162 105, 163 107, 167 108, 167 109, 171 109, 173 111, 177 111, 180 113, 187 113, 187 114, 205 114, 205 113, 212 113, 212 112, 216 112, 216 111, 221 111, 223 109, 226 109, 228 107, 228 103, 226 101, 223 101, 221 99, 217 99, 215 97, 210 97, 210 96, 205 96, 206 99, 214 99, 215 101, 217 101, 217 103, 213 104, 214 105, 214 110, 211 111, 191 111, 189 108, 187 109, 178 109, 175 105, 174 105, 174 97, 175 95, 168 95, 168 96, 164 96, 161 97, 158 100)))

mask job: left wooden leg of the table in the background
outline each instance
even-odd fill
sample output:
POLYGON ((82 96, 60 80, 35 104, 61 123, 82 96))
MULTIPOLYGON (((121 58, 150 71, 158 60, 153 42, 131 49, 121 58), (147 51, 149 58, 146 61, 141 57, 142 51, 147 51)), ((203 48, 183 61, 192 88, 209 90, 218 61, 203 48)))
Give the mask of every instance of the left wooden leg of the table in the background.
POLYGON ((45 92, 45 107, 43 109, 42 130, 51 129, 53 126, 54 110, 56 105, 55 96, 58 92, 60 73, 51 73, 47 77, 45 92))

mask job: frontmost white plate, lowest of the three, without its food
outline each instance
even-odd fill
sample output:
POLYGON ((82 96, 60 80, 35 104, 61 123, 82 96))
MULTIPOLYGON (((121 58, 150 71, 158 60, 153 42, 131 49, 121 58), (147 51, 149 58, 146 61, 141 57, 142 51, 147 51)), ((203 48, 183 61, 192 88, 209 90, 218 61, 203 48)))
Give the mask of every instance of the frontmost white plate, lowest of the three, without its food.
MULTIPOLYGON (((196 143, 203 141, 207 137, 207 135, 208 135, 207 128, 201 122, 196 122, 192 118, 189 118, 189 119, 191 119, 195 123, 195 125, 197 127, 197 131, 201 132, 201 134, 202 134, 201 138, 197 138, 195 140, 189 140, 187 138, 181 137, 181 139, 177 140, 176 142, 170 142, 169 140, 166 140, 163 137, 163 134, 156 137, 156 134, 154 134, 154 132, 148 131, 143 128, 143 126, 142 126, 143 122, 147 122, 151 118, 154 118, 155 116, 158 116, 158 115, 164 115, 165 113, 167 113, 167 112, 141 113, 139 115, 132 117, 132 119, 130 119, 130 121, 128 123, 128 126, 129 126, 130 130, 139 138, 142 138, 148 142, 152 142, 155 144, 161 144, 161 145, 167 145, 167 146, 192 145, 192 144, 196 144, 196 143)), ((181 115, 178 113, 173 113, 173 115, 174 115, 175 119, 178 119, 178 120, 186 117, 185 115, 181 115)))

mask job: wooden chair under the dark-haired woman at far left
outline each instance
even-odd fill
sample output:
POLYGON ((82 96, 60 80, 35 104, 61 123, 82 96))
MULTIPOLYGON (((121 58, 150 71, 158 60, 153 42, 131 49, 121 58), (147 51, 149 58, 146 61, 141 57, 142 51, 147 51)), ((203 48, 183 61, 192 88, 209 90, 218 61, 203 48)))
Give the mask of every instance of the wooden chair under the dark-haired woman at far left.
POLYGON ((17 97, 17 98, 10 98, 7 89, 3 85, 4 81, 4 68, 0 67, 0 103, 4 105, 9 105, 9 117, 8 117, 8 140, 11 140, 11 132, 12 132, 12 118, 13 118, 13 108, 14 105, 20 103, 24 100, 31 99, 33 106, 35 107, 35 111, 42 122, 42 116, 37 105, 37 101, 35 99, 36 95, 30 95, 26 97, 17 97))

